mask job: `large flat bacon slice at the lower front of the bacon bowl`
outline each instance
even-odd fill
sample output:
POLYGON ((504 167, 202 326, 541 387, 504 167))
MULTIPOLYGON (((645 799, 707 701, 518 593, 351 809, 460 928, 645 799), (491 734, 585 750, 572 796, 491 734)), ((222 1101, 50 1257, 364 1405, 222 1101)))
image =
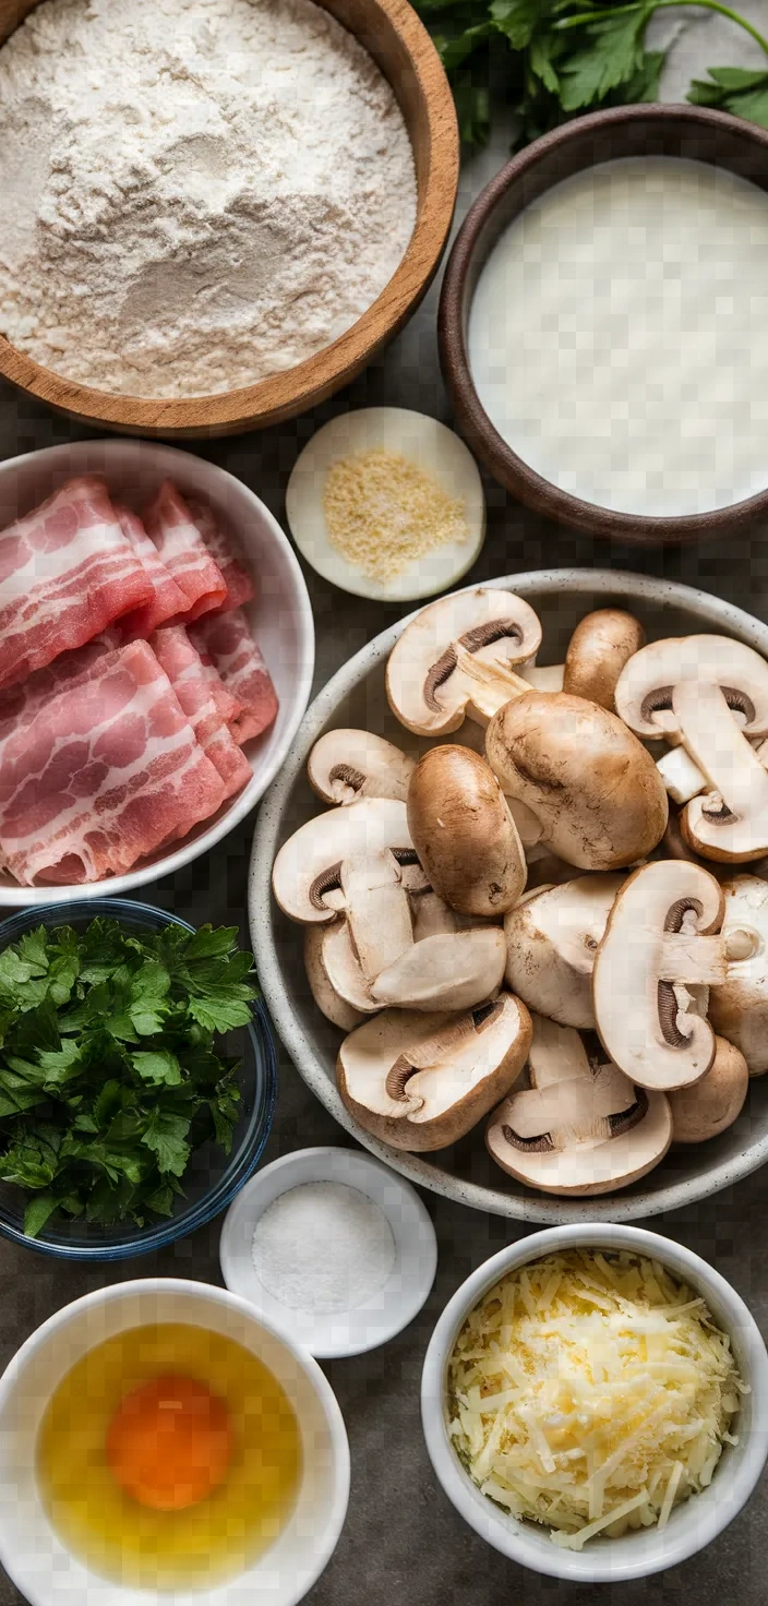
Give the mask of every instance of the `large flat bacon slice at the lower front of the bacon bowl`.
POLYGON ((0 854, 18 882, 119 875, 220 806, 146 641, 96 658, 0 745, 0 854))

